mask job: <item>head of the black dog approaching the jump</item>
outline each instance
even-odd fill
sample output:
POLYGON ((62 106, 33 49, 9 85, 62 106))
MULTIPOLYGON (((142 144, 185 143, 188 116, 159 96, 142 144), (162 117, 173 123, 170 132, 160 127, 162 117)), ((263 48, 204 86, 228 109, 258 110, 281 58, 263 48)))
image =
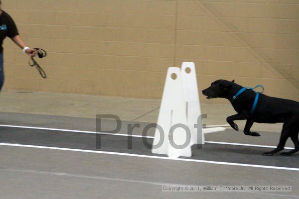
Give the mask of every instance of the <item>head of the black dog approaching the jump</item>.
POLYGON ((211 86, 205 90, 202 90, 202 94, 207 96, 207 99, 212 98, 227 98, 228 93, 233 88, 235 84, 235 80, 227 81, 227 80, 217 80, 211 84, 211 86))

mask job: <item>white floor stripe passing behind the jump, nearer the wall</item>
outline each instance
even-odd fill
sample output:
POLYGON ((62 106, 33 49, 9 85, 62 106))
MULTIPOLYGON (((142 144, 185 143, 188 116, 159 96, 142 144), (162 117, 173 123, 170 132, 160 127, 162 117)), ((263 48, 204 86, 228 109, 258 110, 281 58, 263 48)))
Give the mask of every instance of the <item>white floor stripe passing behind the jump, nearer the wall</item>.
MULTIPOLYGON (((11 128, 26 128, 26 129, 40 129, 40 130, 53 130, 53 131, 63 131, 63 132, 73 132, 73 133, 91 133, 91 134, 102 134, 102 135, 118 135, 118 136, 132 136, 132 137, 143 137, 142 135, 128 135, 128 134, 119 134, 119 133, 104 133, 104 132, 95 132, 95 131, 80 131, 80 130, 70 130, 70 129, 61 129, 61 128, 44 128, 44 127, 33 127, 33 126, 14 126, 14 125, 3 125, 1 127, 11 127, 11 128)), ((145 136, 145 138, 153 139, 152 136, 145 136)), ((229 143, 229 142, 214 142, 214 141, 205 141, 206 143, 211 144, 227 144, 227 145, 238 145, 238 146, 250 146, 250 147, 264 147, 264 148, 276 148, 276 146, 267 146, 267 145, 255 145, 255 144, 242 144, 242 143, 229 143)), ((292 147, 285 147, 285 149, 294 149, 292 147)))

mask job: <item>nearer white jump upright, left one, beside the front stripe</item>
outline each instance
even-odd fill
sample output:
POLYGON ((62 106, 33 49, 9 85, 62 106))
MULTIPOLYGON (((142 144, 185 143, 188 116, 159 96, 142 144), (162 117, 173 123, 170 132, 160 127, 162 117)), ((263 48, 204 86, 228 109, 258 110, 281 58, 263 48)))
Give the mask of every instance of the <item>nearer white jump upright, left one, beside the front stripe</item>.
POLYGON ((186 130, 181 127, 171 130, 171 127, 175 124, 188 126, 180 69, 170 67, 167 71, 157 121, 157 125, 159 125, 161 129, 155 129, 152 144, 153 148, 151 149, 152 153, 165 154, 168 155, 168 157, 191 157, 191 146, 189 144, 183 149, 178 149, 173 146, 173 142, 179 146, 183 145, 186 142, 187 137, 186 130), (158 145, 158 143, 161 142, 161 130, 163 130, 164 138, 161 137, 161 140, 163 141, 158 145), (159 147, 157 148, 157 146, 159 147))

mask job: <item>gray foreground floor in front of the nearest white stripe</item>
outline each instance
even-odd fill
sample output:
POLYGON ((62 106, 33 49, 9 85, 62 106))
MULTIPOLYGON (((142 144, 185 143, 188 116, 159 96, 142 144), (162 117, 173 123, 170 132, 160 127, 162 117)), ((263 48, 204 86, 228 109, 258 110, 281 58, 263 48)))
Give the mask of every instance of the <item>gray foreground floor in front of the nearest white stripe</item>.
POLYGON ((17 147, 0 151, 1 199, 299 198, 294 171, 17 147), (293 192, 162 192, 167 184, 292 185, 293 192))

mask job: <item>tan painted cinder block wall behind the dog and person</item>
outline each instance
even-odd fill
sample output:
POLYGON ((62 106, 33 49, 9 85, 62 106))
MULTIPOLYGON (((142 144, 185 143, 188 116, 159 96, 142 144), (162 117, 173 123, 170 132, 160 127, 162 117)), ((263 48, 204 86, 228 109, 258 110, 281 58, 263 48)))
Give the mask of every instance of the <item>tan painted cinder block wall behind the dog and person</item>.
MULTIPOLYGON (((4 89, 160 99, 166 70, 196 64, 217 79, 299 100, 298 0, 2 0, 42 79, 7 38, 4 89)), ((227 103, 226 100, 202 102, 227 103)))

